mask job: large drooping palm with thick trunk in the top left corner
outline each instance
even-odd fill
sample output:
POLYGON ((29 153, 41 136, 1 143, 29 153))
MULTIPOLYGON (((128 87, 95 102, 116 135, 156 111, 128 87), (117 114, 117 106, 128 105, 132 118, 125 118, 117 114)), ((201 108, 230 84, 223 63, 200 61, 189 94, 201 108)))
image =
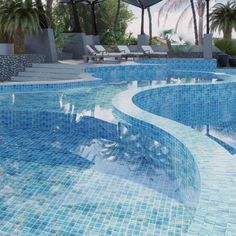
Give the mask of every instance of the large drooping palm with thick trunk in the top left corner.
POLYGON ((32 0, 0 2, 0 32, 15 43, 15 51, 24 52, 25 34, 41 30, 42 13, 32 0))

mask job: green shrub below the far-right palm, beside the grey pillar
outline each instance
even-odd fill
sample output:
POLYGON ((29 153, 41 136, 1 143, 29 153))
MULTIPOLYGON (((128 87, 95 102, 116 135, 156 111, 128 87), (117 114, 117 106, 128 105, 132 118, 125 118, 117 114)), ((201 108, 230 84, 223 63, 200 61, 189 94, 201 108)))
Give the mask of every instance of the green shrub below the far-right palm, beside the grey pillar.
POLYGON ((236 39, 215 39, 214 43, 222 52, 236 56, 236 39))

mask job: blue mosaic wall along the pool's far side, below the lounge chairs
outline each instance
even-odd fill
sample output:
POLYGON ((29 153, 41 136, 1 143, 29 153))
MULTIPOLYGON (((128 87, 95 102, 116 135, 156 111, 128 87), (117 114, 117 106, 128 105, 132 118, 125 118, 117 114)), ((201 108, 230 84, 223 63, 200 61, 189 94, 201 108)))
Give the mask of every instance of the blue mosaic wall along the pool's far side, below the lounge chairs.
MULTIPOLYGON (((29 55, 30 56, 30 55, 29 55)), ((0 93, 8 92, 27 92, 27 91, 37 91, 37 90, 59 90, 66 88, 82 87, 82 86, 98 86, 103 83, 109 82, 116 78, 116 72, 119 71, 122 78, 126 78, 127 74, 132 71, 132 74, 141 73, 145 75, 146 79, 149 79, 153 75, 157 80, 163 80, 169 76, 185 76, 185 77, 202 77, 202 78, 212 78, 212 72, 216 70, 215 60, 202 60, 202 59, 158 59, 158 60, 147 60, 142 61, 142 64, 134 65, 120 65, 120 66, 97 66, 88 67, 84 69, 85 73, 93 74, 93 78, 90 80, 80 79, 75 81, 67 82, 32 82, 32 83, 9 83, 2 84, 0 86, 0 93), (172 64, 175 65, 172 67, 172 64), (195 66, 194 66, 195 65, 195 66), (198 65, 198 66, 197 66, 198 65), (173 70, 173 68, 176 68, 173 70), (200 68, 200 71, 194 71, 196 68, 200 68), (205 68, 205 69, 204 69, 205 68), (122 72, 122 73, 121 73, 122 72), (150 76, 149 76, 150 75, 150 76)), ((83 77, 83 76, 82 76, 83 77)), ((140 78, 140 76, 139 76, 140 78)), ((133 78, 132 80, 137 80, 139 78, 133 78)))

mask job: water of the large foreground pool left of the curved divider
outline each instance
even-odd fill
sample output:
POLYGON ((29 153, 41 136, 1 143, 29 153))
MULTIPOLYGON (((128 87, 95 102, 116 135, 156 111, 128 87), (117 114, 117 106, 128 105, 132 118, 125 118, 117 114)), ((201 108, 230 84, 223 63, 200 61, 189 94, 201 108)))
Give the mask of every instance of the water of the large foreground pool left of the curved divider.
POLYGON ((197 199, 182 198, 172 151, 132 133, 127 145, 112 112, 117 93, 160 83, 1 94, 0 234, 186 233, 197 199))

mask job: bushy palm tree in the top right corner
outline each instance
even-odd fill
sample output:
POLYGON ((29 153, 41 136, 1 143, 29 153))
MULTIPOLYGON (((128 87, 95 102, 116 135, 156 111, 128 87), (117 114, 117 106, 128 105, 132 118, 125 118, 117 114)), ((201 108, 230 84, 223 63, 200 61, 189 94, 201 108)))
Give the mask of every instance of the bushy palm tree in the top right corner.
POLYGON ((236 2, 218 3, 210 14, 211 30, 223 31, 224 39, 231 40, 236 30, 236 2))

